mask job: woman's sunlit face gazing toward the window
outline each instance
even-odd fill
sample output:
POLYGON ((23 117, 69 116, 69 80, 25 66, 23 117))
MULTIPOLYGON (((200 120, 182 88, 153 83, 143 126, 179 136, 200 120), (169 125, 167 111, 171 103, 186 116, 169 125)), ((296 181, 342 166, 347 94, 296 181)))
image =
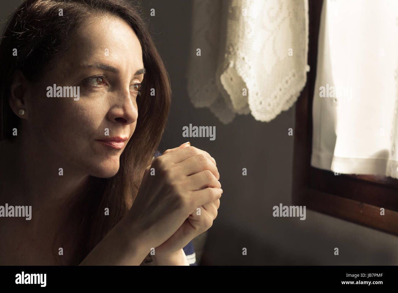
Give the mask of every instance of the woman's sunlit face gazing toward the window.
POLYGON ((29 137, 74 172, 111 177, 137 124, 140 42, 127 22, 103 16, 81 26, 69 47, 26 92, 29 137), (62 95, 63 87, 76 87, 79 97, 49 97, 54 84, 62 95), (127 138, 124 147, 98 141, 112 137, 127 138))

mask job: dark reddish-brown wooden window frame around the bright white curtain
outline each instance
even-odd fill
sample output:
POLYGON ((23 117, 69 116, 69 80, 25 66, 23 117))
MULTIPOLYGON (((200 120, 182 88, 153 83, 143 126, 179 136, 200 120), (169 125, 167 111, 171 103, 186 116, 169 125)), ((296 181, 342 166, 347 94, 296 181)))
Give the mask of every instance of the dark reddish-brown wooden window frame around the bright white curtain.
POLYGON ((310 165, 312 100, 316 77, 322 2, 309 0, 307 83, 296 102, 293 151, 294 205, 398 236, 398 179, 372 175, 335 175, 310 165), (384 208, 384 216, 380 215, 384 208))

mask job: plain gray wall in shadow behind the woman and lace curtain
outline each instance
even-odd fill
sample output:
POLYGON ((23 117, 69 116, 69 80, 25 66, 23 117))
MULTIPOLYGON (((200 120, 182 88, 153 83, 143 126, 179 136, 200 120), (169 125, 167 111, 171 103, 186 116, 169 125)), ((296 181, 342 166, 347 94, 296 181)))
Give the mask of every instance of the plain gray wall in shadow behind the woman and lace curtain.
MULTIPOLYGON (((306 220, 274 218, 272 206, 291 205, 295 106, 269 123, 251 115, 221 124, 205 108, 193 108, 186 90, 191 1, 142 1, 155 43, 172 82, 172 106, 160 150, 191 145, 217 161, 224 193, 204 250, 213 265, 398 265, 398 238, 306 210, 306 220), (156 16, 149 15, 155 8, 156 16), (183 138, 182 127, 216 126, 216 140, 183 138), (242 168, 248 175, 242 176, 242 168), (242 256, 242 248, 248 255, 242 256), (339 256, 334 248, 339 248, 339 256)), ((4 20, 15 1, 3 0, 4 20)), ((18 2, 19 3, 19 2, 18 2)))

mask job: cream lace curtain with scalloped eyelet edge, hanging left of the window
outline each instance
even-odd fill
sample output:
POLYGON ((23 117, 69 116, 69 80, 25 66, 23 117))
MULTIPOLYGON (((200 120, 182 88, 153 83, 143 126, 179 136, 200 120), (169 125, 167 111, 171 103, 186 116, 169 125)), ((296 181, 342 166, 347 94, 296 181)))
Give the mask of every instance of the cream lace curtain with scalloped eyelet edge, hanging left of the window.
POLYGON ((269 122, 306 83, 308 0, 194 0, 189 98, 230 123, 269 122))

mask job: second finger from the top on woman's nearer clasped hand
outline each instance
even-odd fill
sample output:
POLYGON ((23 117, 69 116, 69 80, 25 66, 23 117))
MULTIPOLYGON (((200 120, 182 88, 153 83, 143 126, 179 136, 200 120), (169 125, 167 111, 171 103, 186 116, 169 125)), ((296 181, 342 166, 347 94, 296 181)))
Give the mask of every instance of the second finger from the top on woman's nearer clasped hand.
MULTIPOLYGON (((205 170, 211 171, 213 173, 214 177, 218 180, 220 179, 220 174, 219 171, 216 167, 216 165, 203 153, 199 153, 198 155, 194 155, 192 157, 189 157, 185 161, 182 161, 181 163, 176 164, 176 172, 178 172, 180 175, 183 176, 190 176, 194 175, 196 173, 200 173, 205 170)), ((196 178, 196 177, 194 177, 196 178)), ((203 185, 205 186, 205 185, 203 185)), ((203 187, 202 186, 202 187, 203 187)), ((218 187, 214 186, 214 187, 218 187)), ((192 190, 198 190, 201 187, 192 189, 192 190)))

